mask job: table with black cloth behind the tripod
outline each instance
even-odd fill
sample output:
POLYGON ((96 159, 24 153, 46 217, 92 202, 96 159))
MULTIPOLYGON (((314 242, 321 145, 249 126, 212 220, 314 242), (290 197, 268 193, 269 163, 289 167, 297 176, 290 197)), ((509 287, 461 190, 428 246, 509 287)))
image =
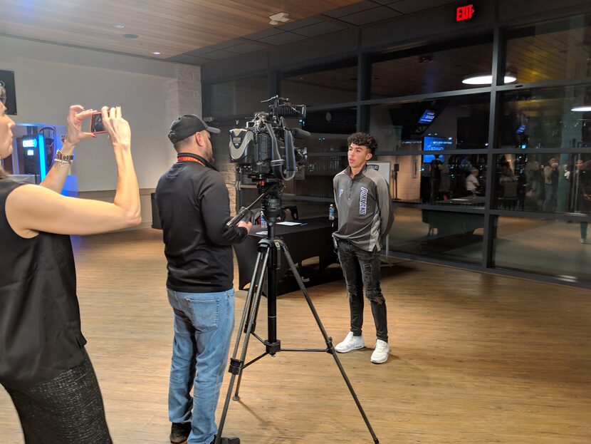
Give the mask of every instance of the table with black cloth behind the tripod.
MULTIPOLYGON (((302 224, 293 226, 278 224, 275 229, 275 237, 285 242, 295 264, 310 257, 318 257, 320 271, 322 271, 329 264, 338 262, 332 239, 333 232, 337 230, 336 220, 330 221, 328 217, 318 217, 294 222, 302 222, 302 224)), ((258 254, 258 241, 266 237, 266 234, 256 234, 261 231, 266 230, 261 229, 260 226, 253 226, 251 233, 244 242, 234 245, 234 252, 236 252, 238 261, 239 289, 244 289, 251 282, 256 265, 256 255, 258 254)), ((277 282, 281 281, 289 269, 287 259, 283 254, 281 254, 280 259, 281 268, 277 270, 277 282)), ((293 289, 282 289, 281 286, 278 286, 277 294, 288 291, 293 291, 293 289)))

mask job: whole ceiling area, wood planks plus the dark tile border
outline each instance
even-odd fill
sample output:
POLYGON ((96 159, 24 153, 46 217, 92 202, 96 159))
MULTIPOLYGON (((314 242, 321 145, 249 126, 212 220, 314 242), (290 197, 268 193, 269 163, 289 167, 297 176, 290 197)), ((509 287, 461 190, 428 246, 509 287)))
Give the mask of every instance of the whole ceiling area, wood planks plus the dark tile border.
POLYGON ((0 35, 202 65, 452 0, 9 0, 0 35), (288 12, 273 26, 269 16, 288 12), (114 25, 124 25, 117 29, 114 25), (159 52, 155 54, 153 52, 159 52))

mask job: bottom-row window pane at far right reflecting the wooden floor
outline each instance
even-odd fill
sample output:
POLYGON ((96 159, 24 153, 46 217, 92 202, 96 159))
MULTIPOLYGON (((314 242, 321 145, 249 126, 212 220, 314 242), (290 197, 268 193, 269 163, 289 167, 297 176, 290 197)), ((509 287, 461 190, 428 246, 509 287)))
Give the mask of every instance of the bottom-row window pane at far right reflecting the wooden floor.
POLYGON ((587 224, 582 221, 498 217, 494 241, 495 267, 591 279, 587 224))

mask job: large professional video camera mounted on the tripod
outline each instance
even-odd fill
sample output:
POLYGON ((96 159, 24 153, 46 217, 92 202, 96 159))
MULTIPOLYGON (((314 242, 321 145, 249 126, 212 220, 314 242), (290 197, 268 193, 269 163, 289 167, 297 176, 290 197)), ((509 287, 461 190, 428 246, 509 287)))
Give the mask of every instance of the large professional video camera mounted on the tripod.
POLYGON ((278 95, 261 103, 266 102, 271 102, 268 112, 254 113, 246 128, 230 130, 230 161, 254 182, 291 180, 308 159, 306 148, 295 148, 293 139, 309 138, 310 133, 288 128, 286 118, 305 118, 306 106, 278 95))

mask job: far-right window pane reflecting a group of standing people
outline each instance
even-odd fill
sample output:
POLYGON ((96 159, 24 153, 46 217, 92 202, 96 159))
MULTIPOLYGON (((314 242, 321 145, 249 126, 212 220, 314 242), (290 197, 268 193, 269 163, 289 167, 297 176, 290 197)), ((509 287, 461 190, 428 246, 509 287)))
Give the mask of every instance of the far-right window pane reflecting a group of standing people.
POLYGON ((591 154, 497 155, 494 192, 501 210, 591 213, 591 154))

